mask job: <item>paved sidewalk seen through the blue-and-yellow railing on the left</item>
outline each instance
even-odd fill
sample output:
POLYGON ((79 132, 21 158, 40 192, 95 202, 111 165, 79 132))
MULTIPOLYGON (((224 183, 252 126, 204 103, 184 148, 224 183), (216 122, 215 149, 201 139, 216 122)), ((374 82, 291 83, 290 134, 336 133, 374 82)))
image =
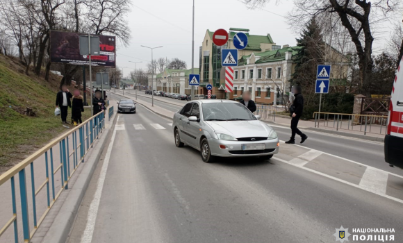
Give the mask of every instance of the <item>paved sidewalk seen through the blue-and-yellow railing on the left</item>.
MULTIPOLYGON (((116 101, 111 101, 110 106, 115 106, 115 111, 117 110, 117 103, 116 101)), ((116 112, 115 112, 116 114, 116 112)), ((113 119, 109 121, 108 119, 108 114, 106 114, 106 119, 105 119, 105 130, 108 131, 107 129, 111 126, 113 122, 113 119)), ((95 140, 94 142, 94 147, 97 146, 99 140, 103 136, 105 136, 103 133, 100 133, 99 139, 95 140)), ((77 134, 79 134, 77 132, 77 134)), ((79 139, 77 139, 79 142, 79 139)), ((51 141, 50 141, 51 142, 51 141)), ((68 146, 69 146, 69 153, 71 156, 69 157, 69 171, 74 170, 74 154, 72 153, 74 146, 73 146, 73 137, 72 134, 68 136, 68 146)), ((85 150, 87 150, 87 146, 85 146, 85 150)), ((79 151, 79 150, 78 150, 79 151)), ((85 155, 85 160, 93 156, 93 151, 94 149, 88 150, 88 154, 85 155)), ((54 167, 54 185, 51 183, 51 159, 50 159, 50 151, 47 153, 47 158, 48 158, 48 163, 49 163, 49 192, 50 192, 50 202, 53 202, 53 187, 54 187, 54 193, 55 196, 57 196, 57 193, 59 192, 63 181, 61 180, 61 173, 62 169, 58 169, 60 166, 60 146, 56 144, 54 147, 52 147, 52 152, 53 152, 53 167, 54 167)), ((67 155, 68 155, 67 154, 67 155)), ((78 153, 79 154, 79 153, 78 153)), ((77 156, 78 158, 80 156, 77 156)), ((33 161, 33 170, 35 171, 35 187, 34 187, 34 192, 37 193, 37 190, 43 185, 44 181, 47 179, 46 176, 46 159, 45 159, 45 154, 37 158, 36 160, 33 161)), ((76 178, 81 174, 81 170, 85 167, 85 162, 84 163, 79 163, 79 166, 77 167, 76 171, 74 174, 70 174, 72 176, 72 179, 69 181, 69 190, 72 189, 72 186, 74 185, 76 178)), ((31 167, 26 167, 25 168, 25 173, 26 173, 26 187, 27 187, 27 196, 28 196, 28 219, 29 219, 29 230, 32 231, 34 229, 33 225, 33 190, 32 190, 32 182, 31 182, 31 167)), ((19 192, 19 176, 18 174, 14 176, 15 177, 15 196, 16 196, 16 202, 17 202, 17 228, 18 228, 18 239, 19 242, 22 242, 24 239, 23 236, 23 231, 22 231, 22 217, 21 217, 21 195, 19 192)), ((64 191, 63 191, 64 192, 64 191)), ((12 194, 11 194, 11 185, 10 185, 10 180, 8 182, 4 183, 3 185, 0 186, 0 228, 2 228, 4 225, 7 224, 8 220, 13 217, 13 207, 12 207, 12 194)), ((54 203, 54 206, 51 207, 51 210, 47 214, 47 217, 42 221, 42 224, 40 225, 40 228, 38 228, 38 231, 35 232, 34 237, 32 238, 31 242, 41 242, 43 236, 47 233, 49 230, 49 227, 53 223, 54 217, 56 217, 58 210, 63 206, 63 202, 66 199, 67 194, 60 194, 56 202, 54 203)), ((38 192, 35 196, 35 205, 36 205, 36 221, 39 222, 40 218, 44 214, 44 212, 48 209, 47 206, 47 186, 45 185, 42 187, 42 190, 38 192)), ((15 242, 15 237, 14 237, 14 227, 11 225, 8 227, 7 231, 0 236, 0 242, 15 242)))

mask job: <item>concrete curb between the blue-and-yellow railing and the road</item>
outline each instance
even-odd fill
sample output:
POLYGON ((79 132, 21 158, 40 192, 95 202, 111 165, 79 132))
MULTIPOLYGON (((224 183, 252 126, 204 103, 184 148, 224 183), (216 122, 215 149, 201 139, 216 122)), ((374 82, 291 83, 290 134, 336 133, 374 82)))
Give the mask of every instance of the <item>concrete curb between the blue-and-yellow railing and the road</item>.
MULTIPOLYGON (((96 146, 94 146, 92 155, 85 161, 85 165, 81 170, 79 176, 77 177, 76 182, 69 192, 63 191, 68 194, 65 201, 63 202, 62 208, 56 215, 53 224, 51 224, 49 231, 44 236, 42 242, 44 243, 65 243, 67 237, 71 231, 71 228, 74 224, 74 220, 76 219, 77 212, 79 212, 79 208, 81 205, 81 201, 83 201, 83 197, 85 192, 87 192, 88 185, 90 185, 90 181, 92 175, 94 174, 95 168, 98 165, 99 158, 101 158, 102 149, 106 146, 106 142, 110 136, 110 131, 113 131, 113 126, 116 123, 117 114, 113 118, 113 122, 110 125, 110 128, 106 128, 104 131, 104 136, 99 139, 99 142, 96 146)), ((62 194, 63 194, 62 192, 62 194)))

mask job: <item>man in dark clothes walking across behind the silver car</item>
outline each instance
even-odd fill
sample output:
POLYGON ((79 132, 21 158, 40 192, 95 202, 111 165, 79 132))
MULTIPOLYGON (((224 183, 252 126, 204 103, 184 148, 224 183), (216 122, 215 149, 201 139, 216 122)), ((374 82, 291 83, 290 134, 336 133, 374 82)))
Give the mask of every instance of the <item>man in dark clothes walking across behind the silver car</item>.
POLYGON ((301 94, 301 87, 298 85, 294 86, 292 91, 294 93, 294 112, 292 114, 293 118, 291 119, 291 137, 290 140, 286 142, 286 144, 295 144, 295 134, 301 136, 301 143, 305 142, 305 140, 308 138, 307 135, 299 131, 299 129, 297 128, 299 118, 301 118, 302 112, 304 110, 304 97, 302 97, 301 94))

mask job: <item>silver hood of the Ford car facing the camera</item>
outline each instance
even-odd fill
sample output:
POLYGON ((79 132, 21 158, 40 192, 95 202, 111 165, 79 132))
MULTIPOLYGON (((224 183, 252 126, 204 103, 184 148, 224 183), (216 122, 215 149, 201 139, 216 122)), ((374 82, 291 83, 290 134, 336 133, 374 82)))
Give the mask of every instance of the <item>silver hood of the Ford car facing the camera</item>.
POLYGON ((268 137, 272 128, 262 121, 206 121, 216 133, 225 133, 235 138, 268 137))

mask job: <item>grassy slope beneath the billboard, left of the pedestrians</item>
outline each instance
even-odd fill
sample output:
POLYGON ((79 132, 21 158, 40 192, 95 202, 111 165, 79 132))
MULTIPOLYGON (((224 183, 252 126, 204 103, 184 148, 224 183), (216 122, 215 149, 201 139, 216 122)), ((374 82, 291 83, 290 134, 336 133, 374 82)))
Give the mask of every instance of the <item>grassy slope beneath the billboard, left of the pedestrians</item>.
MULTIPOLYGON (((59 82, 54 75, 49 82, 26 76, 17 60, 0 55, 0 167, 14 165, 66 131, 54 115, 59 82), (22 115, 26 107, 36 117, 22 115)), ((89 115, 86 110, 83 119, 89 115)))

